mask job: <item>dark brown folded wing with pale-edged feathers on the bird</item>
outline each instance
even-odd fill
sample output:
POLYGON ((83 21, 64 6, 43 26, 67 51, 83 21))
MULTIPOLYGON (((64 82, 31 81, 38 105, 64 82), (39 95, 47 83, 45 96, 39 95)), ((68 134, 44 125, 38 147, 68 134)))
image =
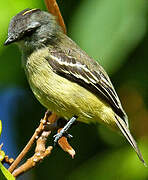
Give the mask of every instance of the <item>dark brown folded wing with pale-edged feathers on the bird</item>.
POLYGON ((128 126, 126 114, 107 73, 93 59, 88 56, 84 57, 76 58, 72 54, 53 51, 46 57, 46 60, 57 74, 80 84, 96 96, 102 97, 128 126), (80 60, 80 58, 84 57, 87 59, 80 60), (86 61, 87 64, 84 63, 86 61))

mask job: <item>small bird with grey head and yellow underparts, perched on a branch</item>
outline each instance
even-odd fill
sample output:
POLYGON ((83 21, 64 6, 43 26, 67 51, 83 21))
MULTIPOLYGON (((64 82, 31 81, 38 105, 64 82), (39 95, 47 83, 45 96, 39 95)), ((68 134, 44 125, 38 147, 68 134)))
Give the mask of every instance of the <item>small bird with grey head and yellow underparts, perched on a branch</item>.
POLYGON ((4 45, 16 43, 22 66, 38 101, 67 120, 102 123, 121 131, 146 165, 129 130, 128 117, 103 67, 64 34, 57 19, 40 9, 25 9, 12 18, 4 45))

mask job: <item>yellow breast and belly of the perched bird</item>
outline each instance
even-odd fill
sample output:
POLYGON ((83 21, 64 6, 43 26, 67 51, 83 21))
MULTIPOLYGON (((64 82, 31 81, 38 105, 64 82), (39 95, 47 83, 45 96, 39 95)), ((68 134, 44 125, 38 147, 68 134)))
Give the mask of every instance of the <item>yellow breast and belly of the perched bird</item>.
POLYGON ((87 89, 54 73, 45 56, 48 51, 39 50, 25 65, 29 84, 40 103, 66 119, 77 115, 85 123, 100 121, 113 125, 111 107, 87 89))

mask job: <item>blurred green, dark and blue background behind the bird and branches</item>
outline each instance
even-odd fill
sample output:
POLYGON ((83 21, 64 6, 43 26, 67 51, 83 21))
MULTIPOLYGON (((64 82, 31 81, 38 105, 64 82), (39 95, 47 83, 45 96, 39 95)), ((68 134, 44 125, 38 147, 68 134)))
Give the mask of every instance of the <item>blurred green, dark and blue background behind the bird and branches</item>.
MULTIPOLYGON (((148 2, 57 2, 68 35, 109 73, 129 116, 131 131, 148 163, 148 2)), ((43 0, 5 0, 0 4, 0 119, 3 123, 0 141, 4 142, 5 152, 16 157, 45 109, 28 86, 18 48, 4 47, 3 43, 12 16, 25 8, 46 10, 46 7, 43 0)), ((75 159, 56 147, 49 158, 19 179, 148 179, 148 169, 117 133, 101 125, 80 123, 72 128, 71 134, 75 159)))

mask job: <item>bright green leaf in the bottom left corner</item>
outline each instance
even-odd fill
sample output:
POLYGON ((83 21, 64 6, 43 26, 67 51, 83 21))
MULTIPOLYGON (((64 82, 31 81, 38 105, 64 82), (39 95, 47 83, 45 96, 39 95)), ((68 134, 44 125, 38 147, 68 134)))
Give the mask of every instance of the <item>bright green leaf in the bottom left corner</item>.
POLYGON ((14 176, 0 162, 0 180, 15 180, 14 176))

